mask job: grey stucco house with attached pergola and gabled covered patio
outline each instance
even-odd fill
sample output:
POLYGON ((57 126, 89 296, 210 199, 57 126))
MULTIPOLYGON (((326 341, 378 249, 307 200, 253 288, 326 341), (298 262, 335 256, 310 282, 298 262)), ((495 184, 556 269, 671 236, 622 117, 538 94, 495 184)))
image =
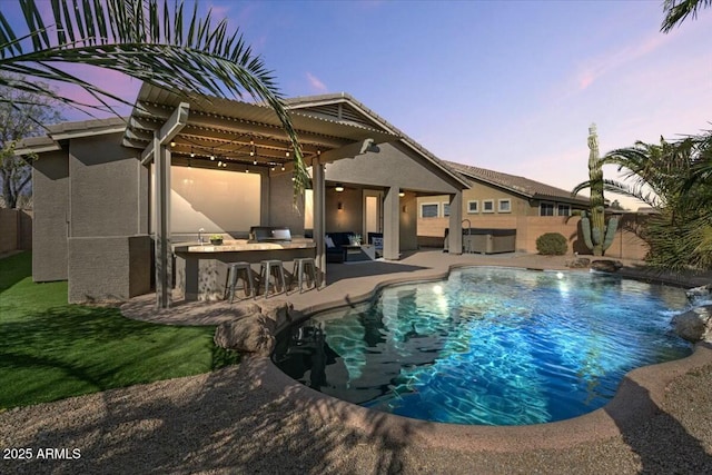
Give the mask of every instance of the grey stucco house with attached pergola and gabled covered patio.
MULTIPOLYGON (((219 281, 230 261, 267 256, 250 244, 194 246, 202 236, 285 227, 326 273, 328 232, 380 234, 383 257, 398 259, 418 246, 418 198, 462 209, 468 181, 353 97, 287 105, 313 181, 296 200, 289 141, 263 105, 186 100, 144 85, 128 118, 50 126, 27 139, 17 152, 37 157, 33 279, 68 280, 69 301, 155 289, 168 307, 177 281, 219 281)), ((448 225, 459 229, 459 211, 448 225)), ((459 232, 449 246, 462 249, 459 232)))

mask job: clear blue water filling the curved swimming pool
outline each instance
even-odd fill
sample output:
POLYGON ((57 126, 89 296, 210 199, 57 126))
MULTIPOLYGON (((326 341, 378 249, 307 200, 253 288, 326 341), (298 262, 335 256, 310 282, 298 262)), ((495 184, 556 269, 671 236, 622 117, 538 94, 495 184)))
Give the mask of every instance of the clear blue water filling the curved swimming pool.
POLYGON ((465 268, 388 287, 278 338, 275 363, 373 409, 455 424, 526 425, 605 405, 633 368, 682 358, 682 289, 587 273, 465 268))

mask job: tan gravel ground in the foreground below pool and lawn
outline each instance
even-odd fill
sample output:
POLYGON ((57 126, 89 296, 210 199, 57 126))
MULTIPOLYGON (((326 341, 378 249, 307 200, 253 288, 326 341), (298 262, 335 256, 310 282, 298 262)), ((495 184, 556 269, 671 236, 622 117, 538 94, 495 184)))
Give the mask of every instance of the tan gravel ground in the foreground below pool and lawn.
POLYGON ((338 409, 309 410, 248 367, 0 414, 0 473, 712 473, 712 365, 675 379, 659 414, 621 436, 513 453, 434 448, 408 434, 349 428, 338 409), (10 448, 31 448, 32 459, 8 459, 10 448), (72 458, 52 459, 47 448, 72 458))

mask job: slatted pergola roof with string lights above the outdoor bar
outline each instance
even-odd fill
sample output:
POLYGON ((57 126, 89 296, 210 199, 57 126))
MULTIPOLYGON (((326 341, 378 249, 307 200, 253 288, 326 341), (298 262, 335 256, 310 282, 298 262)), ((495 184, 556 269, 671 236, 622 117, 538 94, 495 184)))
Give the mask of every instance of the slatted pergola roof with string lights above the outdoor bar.
MULTIPOLYGON (((206 96, 186 98, 146 83, 128 120, 123 146, 145 149, 182 101, 189 103, 190 111, 186 126, 171 142, 174 156, 197 160, 219 157, 233 164, 273 167, 291 162, 291 142, 271 107, 206 96)), ((383 144, 399 139, 384 129, 298 110, 289 115, 307 164, 317 155, 365 140, 383 144)))

